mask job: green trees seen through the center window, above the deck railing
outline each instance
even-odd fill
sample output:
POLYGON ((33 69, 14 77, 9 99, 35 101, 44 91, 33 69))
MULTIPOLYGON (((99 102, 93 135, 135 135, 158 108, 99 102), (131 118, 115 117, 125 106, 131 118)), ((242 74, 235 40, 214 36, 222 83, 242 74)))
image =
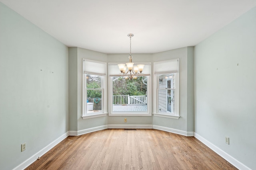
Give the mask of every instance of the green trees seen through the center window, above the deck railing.
POLYGON ((147 85, 143 83, 146 77, 137 77, 132 80, 124 77, 113 78, 113 95, 130 95, 144 96, 146 95, 147 85))

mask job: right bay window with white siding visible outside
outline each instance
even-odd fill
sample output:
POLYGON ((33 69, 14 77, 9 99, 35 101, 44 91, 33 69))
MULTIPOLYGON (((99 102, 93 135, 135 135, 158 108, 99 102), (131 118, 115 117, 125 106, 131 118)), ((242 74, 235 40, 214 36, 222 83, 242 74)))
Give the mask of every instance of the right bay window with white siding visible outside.
POLYGON ((154 114, 179 117, 179 59, 154 63, 154 114))

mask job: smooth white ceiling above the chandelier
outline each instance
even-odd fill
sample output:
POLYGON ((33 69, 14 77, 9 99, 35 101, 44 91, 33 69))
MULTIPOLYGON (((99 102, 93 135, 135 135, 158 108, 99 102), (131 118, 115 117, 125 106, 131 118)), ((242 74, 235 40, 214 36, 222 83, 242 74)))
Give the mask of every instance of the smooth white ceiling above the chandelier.
POLYGON ((68 47, 156 53, 194 46, 256 0, 0 0, 68 47))

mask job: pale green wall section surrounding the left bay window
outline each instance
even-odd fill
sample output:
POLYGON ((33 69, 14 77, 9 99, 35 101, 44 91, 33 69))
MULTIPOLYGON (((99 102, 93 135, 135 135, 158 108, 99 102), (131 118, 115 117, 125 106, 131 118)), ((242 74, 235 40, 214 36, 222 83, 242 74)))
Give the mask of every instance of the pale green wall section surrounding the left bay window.
POLYGON ((69 126, 83 131, 108 124, 108 117, 82 119, 82 59, 107 62, 107 55, 78 47, 69 48, 69 126))

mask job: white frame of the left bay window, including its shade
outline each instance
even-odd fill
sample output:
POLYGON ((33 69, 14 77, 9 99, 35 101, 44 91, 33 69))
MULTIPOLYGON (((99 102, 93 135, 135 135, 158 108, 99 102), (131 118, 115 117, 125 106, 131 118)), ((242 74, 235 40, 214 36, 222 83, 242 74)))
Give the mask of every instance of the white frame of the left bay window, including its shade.
MULTIPOLYGON (((102 117, 107 115, 107 108, 106 108, 106 102, 107 102, 107 83, 106 83, 106 66, 107 63, 100 62, 100 61, 93 61, 88 59, 82 59, 83 63, 83 72, 82 72, 82 118, 83 119, 90 119, 94 117, 102 117), (86 64, 85 62, 90 62, 92 64, 95 64, 95 66, 100 67, 101 69, 97 70, 97 68, 91 67, 88 69, 85 69, 86 64), (91 70, 90 70, 91 69, 91 70), (101 76, 101 88, 98 90, 102 90, 102 111, 101 112, 95 112, 95 113, 87 113, 87 90, 86 89, 86 75, 92 74, 92 75, 98 75, 101 76)), ((97 89, 93 89, 97 90, 97 89)))

